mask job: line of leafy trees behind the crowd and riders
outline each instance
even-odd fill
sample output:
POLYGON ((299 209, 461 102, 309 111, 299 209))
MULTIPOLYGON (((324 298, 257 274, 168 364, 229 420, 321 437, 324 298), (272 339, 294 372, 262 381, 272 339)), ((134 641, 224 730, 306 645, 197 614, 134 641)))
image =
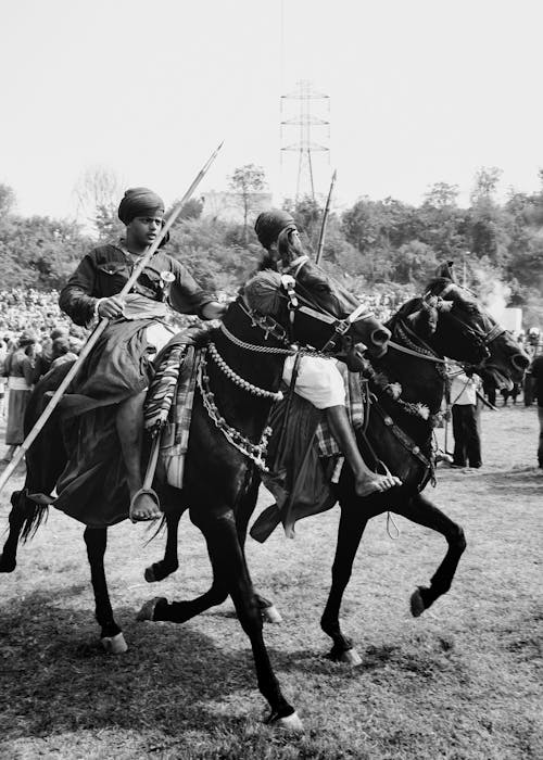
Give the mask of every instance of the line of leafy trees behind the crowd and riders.
MULTIPOLYGON (((393 198, 362 197, 351 207, 330 214, 323 265, 341 274, 354 292, 388 288, 415 292, 438 263, 454 261, 460 282, 484 296, 500 283, 508 305, 521 306, 525 324, 543 327, 543 170, 541 188, 528 194, 512 191, 496 201, 501 172, 477 173, 470 204, 459 207, 458 188, 437 182, 419 206, 393 198)), ((236 169, 230 189, 239 195, 243 223, 202 215, 192 200, 172 229, 168 253, 179 258, 205 288, 233 292, 255 268, 262 250, 251 225, 251 199, 264 187, 262 169, 236 169), (249 177, 249 181, 248 181, 249 177), (251 185, 255 181, 256 185, 251 185)), ((0 279, 4 288, 60 288, 84 253, 122 232, 116 201, 104 193, 90 214, 91 232, 78 224, 50 217, 23 217, 14 212, 13 190, 0 183, 0 279)), ((313 199, 286 200, 305 243, 315 251, 323 208, 313 199)))

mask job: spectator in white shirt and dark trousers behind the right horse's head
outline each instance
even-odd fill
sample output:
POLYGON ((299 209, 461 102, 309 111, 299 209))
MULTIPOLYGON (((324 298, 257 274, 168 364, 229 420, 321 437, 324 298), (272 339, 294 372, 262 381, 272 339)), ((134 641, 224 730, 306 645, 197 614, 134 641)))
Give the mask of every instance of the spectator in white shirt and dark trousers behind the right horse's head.
POLYGON ((481 467, 481 439, 477 425, 477 390, 480 378, 470 369, 453 378, 453 467, 481 467))

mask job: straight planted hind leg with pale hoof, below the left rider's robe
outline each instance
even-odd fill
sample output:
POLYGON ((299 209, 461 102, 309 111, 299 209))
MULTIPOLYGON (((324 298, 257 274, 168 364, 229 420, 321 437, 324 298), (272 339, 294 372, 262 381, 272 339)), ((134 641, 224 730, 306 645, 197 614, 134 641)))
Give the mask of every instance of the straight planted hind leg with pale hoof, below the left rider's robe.
POLYGON ((94 591, 96 619, 101 626, 100 641, 105 651, 112 655, 122 655, 128 647, 123 632, 113 618, 103 565, 108 546, 108 529, 86 528, 84 537, 90 565, 90 579, 94 591))

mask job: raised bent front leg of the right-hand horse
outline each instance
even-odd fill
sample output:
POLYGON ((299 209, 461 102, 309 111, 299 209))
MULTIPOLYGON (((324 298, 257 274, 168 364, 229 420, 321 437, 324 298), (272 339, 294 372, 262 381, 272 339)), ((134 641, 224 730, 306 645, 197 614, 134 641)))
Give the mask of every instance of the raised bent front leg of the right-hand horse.
POLYGON ((428 609, 435 599, 451 588, 456 568, 466 548, 464 531, 456 522, 446 517, 426 496, 417 494, 405 509, 395 509, 399 515, 425 528, 431 528, 445 539, 447 552, 434 572, 430 586, 418 586, 411 597, 411 611, 417 618, 428 609))

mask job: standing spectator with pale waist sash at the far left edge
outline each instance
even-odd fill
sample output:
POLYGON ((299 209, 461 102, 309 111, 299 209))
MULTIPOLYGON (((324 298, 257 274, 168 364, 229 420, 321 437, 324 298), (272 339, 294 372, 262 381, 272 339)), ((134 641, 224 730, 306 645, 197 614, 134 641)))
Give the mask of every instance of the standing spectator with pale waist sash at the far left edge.
POLYGON ((9 446, 4 460, 11 461, 15 449, 24 441, 24 416, 30 396, 37 337, 34 332, 23 332, 18 339, 18 347, 5 359, 8 373, 8 426, 5 443, 9 446))

